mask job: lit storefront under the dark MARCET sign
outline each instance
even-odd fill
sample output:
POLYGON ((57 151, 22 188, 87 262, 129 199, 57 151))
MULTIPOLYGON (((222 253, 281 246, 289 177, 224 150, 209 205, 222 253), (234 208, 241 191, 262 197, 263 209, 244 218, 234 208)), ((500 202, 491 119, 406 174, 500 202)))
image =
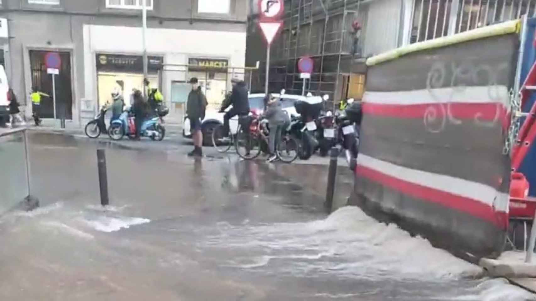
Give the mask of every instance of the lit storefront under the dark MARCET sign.
POLYGON ((218 110, 228 91, 230 82, 227 59, 189 58, 188 76, 199 79, 209 108, 218 110))

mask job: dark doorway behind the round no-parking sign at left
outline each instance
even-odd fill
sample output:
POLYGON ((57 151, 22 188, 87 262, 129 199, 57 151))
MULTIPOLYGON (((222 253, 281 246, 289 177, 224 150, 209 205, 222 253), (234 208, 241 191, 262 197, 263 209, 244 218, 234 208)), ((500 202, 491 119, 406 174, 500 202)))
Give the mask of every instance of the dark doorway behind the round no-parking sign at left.
MULTIPOLYGON (((52 99, 52 76, 47 73, 44 63, 45 56, 49 51, 30 50, 30 68, 32 75, 32 87, 50 95, 41 98, 41 117, 54 118, 54 101, 52 99)), ((72 84, 71 84, 71 53, 58 52, 61 58, 61 67, 56 76, 56 117, 72 119, 72 84)))

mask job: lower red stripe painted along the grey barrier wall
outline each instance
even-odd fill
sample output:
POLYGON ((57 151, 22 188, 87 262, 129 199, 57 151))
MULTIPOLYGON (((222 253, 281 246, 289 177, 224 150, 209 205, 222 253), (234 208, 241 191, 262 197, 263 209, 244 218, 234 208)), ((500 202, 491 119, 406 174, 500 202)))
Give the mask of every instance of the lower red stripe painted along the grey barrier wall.
POLYGON ((384 186, 399 191, 407 196, 449 207, 450 209, 492 222, 500 229, 505 229, 508 225, 507 220, 505 221, 504 217, 506 213, 495 212, 492 207, 483 204, 478 200, 408 182, 362 165, 356 167, 355 173, 358 176, 367 177, 369 180, 381 183, 384 186))

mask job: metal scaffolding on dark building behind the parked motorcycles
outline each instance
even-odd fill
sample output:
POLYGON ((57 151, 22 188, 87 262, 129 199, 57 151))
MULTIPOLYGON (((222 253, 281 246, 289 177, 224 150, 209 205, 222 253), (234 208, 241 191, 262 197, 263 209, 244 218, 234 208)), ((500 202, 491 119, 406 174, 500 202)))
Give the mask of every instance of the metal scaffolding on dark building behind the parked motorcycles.
MULTIPOLYGON (((360 3, 360 0, 285 0, 283 29, 271 49, 270 92, 285 89, 289 94, 301 94, 303 80, 297 60, 308 56, 314 60, 314 71, 305 91, 328 94, 338 103, 338 98, 344 95, 343 74, 351 73, 351 65, 359 57, 352 24, 364 22, 359 14, 360 3)), ((264 87, 265 68, 260 68, 256 75, 253 88, 260 91, 264 87)))

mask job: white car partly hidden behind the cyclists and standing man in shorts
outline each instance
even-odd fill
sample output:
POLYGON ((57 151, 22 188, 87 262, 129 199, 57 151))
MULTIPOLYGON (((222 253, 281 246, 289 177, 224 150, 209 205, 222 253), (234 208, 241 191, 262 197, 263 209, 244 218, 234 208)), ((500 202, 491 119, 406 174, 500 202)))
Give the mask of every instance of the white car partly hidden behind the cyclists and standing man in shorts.
MULTIPOLYGON (((255 93, 255 94, 250 94, 248 96, 249 109, 252 112, 255 111, 257 114, 263 113, 265 95, 266 94, 264 93, 255 93)), ((274 97, 280 97, 280 94, 271 94, 271 95, 274 97)), ((283 97, 281 98, 281 106, 283 107, 283 110, 285 110, 289 114, 289 116, 299 115, 296 112, 296 109, 294 108, 294 103, 297 100, 303 100, 304 98, 305 96, 301 96, 301 95, 284 94, 283 97)), ((218 111, 207 110, 205 119, 203 119, 202 121, 204 145, 212 145, 212 131, 216 126, 224 124, 224 114, 225 113, 219 113, 218 111)), ((238 127, 238 117, 233 117, 231 120, 229 120, 230 132, 232 134, 236 134, 237 127, 238 127)), ((188 119, 188 116, 184 118, 184 126, 182 127, 182 135, 186 138, 192 137, 192 133, 190 132, 190 120, 188 119)))

